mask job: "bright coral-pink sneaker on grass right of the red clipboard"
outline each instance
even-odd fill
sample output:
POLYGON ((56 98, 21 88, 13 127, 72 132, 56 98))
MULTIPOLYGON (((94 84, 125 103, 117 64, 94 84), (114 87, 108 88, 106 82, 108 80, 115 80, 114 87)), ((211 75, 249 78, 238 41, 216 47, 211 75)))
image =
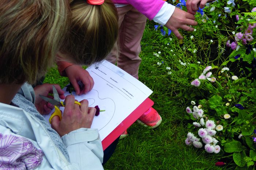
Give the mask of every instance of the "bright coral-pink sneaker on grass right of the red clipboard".
POLYGON ((153 107, 150 107, 137 121, 144 126, 154 129, 161 124, 162 118, 153 107))

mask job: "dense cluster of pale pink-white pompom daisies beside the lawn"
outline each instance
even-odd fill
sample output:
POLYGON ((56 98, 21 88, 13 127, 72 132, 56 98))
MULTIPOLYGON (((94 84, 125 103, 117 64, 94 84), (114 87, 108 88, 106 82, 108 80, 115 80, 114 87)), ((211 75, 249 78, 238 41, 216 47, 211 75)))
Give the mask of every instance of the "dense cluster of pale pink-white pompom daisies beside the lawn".
MULTIPOLYGON (((219 153, 221 150, 221 147, 217 145, 219 141, 215 138, 215 135, 217 131, 223 130, 222 125, 215 125, 215 122, 213 120, 207 120, 206 122, 204 121, 203 118, 203 110, 199 109, 197 106, 193 107, 193 112, 192 110, 187 107, 186 111, 188 113, 192 113, 194 118, 200 119, 199 122, 193 122, 193 125, 195 127, 203 127, 198 130, 198 135, 200 138, 202 138, 202 142, 205 144, 204 149, 208 153, 219 153)), ((193 133, 189 132, 187 135, 187 138, 185 139, 185 143, 188 146, 193 145, 196 148, 202 148, 203 143, 200 142, 200 138, 197 138, 193 133)))

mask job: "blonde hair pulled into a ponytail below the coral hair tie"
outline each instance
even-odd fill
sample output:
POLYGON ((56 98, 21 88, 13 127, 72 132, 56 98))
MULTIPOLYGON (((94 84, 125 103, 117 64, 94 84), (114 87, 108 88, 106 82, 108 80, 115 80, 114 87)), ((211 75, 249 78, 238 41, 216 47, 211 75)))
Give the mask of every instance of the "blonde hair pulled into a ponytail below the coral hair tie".
POLYGON ((75 64, 100 62, 112 50, 118 35, 116 7, 110 0, 89 5, 85 0, 70 0, 71 27, 60 48, 64 58, 75 64), (72 60, 70 60, 70 58, 72 60))

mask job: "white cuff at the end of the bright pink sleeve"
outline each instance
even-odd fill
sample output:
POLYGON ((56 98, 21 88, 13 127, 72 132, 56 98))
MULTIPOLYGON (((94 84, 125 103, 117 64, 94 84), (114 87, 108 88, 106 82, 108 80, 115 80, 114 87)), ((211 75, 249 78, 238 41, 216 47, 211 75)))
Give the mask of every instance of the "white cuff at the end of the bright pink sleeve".
POLYGON ((155 17, 153 18, 153 21, 158 24, 165 25, 170 17, 173 15, 174 10, 175 6, 165 2, 162 8, 158 11, 157 15, 155 15, 155 17))

